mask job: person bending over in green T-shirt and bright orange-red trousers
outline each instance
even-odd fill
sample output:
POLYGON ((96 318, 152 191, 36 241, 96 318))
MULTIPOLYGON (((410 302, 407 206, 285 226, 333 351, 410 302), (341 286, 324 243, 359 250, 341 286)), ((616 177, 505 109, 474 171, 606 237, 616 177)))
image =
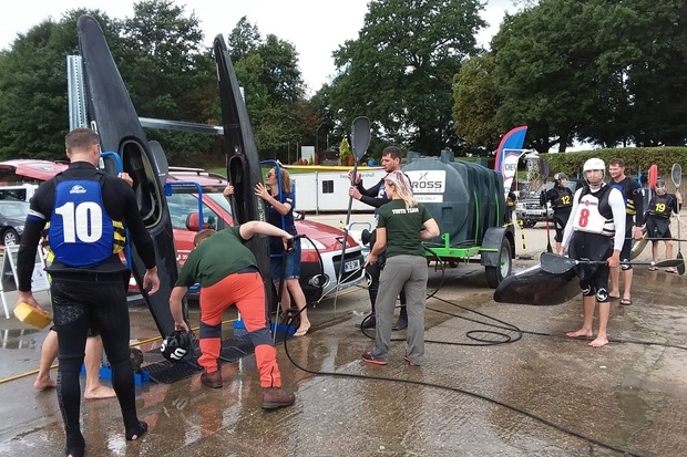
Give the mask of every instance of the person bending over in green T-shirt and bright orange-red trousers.
POLYGON ((170 310, 175 330, 188 331, 182 313, 182 299, 188 288, 201 283, 201 352, 198 363, 205 372, 201 383, 222 387, 217 359, 222 349, 222 314, 233 304, 240 312, 248 336, 255 345, 255 359, 260 372, 264 409, 290 406, 294 394, 281 391, 281 373, 277 365, 265 313, 265 288, 253 252, 244 246, 254 235, 280 237, 285 243, 290 233, 262 221, 249 221, 215 232, 206 229, 196 235, 195 248, 188 255, 170 295, 170 310))

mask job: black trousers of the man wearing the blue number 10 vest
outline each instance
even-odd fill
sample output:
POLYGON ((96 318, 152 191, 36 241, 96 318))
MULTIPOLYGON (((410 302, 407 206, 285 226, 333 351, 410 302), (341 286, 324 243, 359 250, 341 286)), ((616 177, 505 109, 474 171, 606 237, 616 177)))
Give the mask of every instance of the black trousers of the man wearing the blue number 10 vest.
POLYGON ((131 330, 123 274, 53 274, 50 292, 60 345, 58 402, 68 439, 81 433, 79 375, 86 336, 92 326, 100 331, 103 340, 103 349, 112 367, 112 387, 122 408, 124 425, 136 424, 136 393, 129 350, 131 330))

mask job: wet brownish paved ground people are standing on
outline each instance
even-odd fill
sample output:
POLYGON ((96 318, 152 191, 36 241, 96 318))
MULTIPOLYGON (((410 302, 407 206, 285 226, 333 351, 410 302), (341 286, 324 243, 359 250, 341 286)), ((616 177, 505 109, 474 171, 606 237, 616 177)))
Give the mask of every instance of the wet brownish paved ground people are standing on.
MULTIPOLYGON (((526 233, 536 258, 545 229, 526 233)), ((441 288, 427 302, 422 367, 403 363, 404 332, 393 334, 389 365, 360 361, 372 340, 355 326, 369 309, 367 291, 355 290, 337 299, 336 312, 334 300, 309 310, 308 335, 279 346, 285 388, 297 395, 293 407, 260 409, 255 359, 247 356, 223 365, 221 390, 202 386, 199 375, 139 386, 140 416, 150 425, 140 442, 124 440, 116 401, 83 402, 86 455, 684 456, 686 280, 637 267, 633 304, 613 302, 612 341, 592 349, 565 337, 580 325, 580 299, 495 303, 479 266, 444 278, 432 270, 429 290, 441 288)), ((132 337, 146 341, 144 364, 160 361, 147 353, 160 346, 147 310, 131 313, 132 337)), ((0 321, 0 455, 62 456, 55 392, 34 391, 30 374, 47 330, 0 321)))

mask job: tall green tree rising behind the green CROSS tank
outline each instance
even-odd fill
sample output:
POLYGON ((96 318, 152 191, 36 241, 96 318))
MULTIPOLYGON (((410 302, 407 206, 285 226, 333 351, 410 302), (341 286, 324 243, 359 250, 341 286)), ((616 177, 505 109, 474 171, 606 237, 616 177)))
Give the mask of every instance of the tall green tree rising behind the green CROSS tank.
POLYGON ((485 25, 476 0, 373 0, 357 40, 335 53, 340 74, 332 110, 342 125, 367 115, 387 139, 438 154, 457 146, 451 117, 452 80, 478 52, 485 25))

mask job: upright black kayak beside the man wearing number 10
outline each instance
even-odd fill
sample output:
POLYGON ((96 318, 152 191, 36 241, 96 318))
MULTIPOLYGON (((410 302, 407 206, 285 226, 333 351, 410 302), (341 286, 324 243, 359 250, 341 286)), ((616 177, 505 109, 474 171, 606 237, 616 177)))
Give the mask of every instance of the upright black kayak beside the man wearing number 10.
POLYGON ((145 137, 120 71, 98 21, 82 15, 76 22, 83 60, 88 113, 103 150, 119 154, 122 168, 133 179, 139 210, 155 243, 160 290, 148 295, 142 288, 145 267, 135 247, 130 266, 162 336, 174 331, 170 294, 178 274, 172 221, 164 193, 167 163, 156 142, 145 137))

